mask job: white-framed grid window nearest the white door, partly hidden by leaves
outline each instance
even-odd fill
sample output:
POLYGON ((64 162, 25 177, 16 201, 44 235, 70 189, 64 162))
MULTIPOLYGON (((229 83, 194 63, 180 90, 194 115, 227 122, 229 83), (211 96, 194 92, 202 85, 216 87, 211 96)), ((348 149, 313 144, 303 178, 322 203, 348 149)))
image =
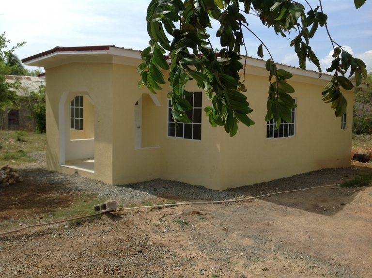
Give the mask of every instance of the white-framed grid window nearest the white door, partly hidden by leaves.
POLYGON ((172 119, 171 101, 168 101, 168 136, 184 139, 202 139, 202 92, 194 92, 186 96, 192 109, 186 114, 192 123, 174 123, 172 119))

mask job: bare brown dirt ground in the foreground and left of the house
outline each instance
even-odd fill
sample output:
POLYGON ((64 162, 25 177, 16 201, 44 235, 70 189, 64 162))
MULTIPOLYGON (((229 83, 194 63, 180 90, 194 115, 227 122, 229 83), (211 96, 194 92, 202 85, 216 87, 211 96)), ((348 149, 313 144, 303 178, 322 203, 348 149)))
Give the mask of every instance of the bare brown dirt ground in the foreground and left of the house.
MULTIPOLYGON (((318 184, 372 169, 342 171, 318 184)), ((292 180, 301 183, 301 176, 292 180)), ((275 186, 282 190, 280 183, 275 186)), ((51 211, 84 196, 26 179, 0 190, 0 220, 12 219, 18 227, 26 219, 47 222, 51 211)), ((167 199, 175 197, 144 201, 167 199)), ((369 278, 371 258, 372 187, 121 210, 0 236, 1 278, 369 278)))

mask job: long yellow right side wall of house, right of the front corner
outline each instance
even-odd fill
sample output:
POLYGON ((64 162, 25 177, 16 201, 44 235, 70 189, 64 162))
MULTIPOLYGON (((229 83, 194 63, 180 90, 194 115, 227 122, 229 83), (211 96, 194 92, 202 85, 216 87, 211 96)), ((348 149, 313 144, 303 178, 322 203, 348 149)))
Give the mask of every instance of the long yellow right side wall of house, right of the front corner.
POLYGON ((312 170, 350 166, 353 93, 343 92, 347 101, 346 130, 330 104, 321 100, 322 86, 291 82, 297 99, 295 135, 266 139, 264 121, 267 77, 248 75, 248 101, 255 125, 239 124, 233 138, 222 137, 221 182, 217 189, 238 187, 288 177, 312 170))

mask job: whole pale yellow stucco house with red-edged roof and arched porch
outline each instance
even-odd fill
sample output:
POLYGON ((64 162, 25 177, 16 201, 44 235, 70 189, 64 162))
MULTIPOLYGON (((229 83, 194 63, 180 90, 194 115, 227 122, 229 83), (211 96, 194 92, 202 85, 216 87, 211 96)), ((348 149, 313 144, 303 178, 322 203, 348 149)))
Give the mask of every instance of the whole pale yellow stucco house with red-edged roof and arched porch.
POLYGON ((255 125, 233 138, 204 116, 196 84, 192 124, 176 126, 168 85, 138 89, 140 51, 115 46, 55 47, 23 60, 47 77, 47 167, 109 184, 163 178, 222 190, 323 168, 350 165, 353 92, 341 118, 321 100, 330 76, 278 65, 291 73, 298 107, 274 131, 266 123, 265 62, 248 58, 246 84, 255 125))

